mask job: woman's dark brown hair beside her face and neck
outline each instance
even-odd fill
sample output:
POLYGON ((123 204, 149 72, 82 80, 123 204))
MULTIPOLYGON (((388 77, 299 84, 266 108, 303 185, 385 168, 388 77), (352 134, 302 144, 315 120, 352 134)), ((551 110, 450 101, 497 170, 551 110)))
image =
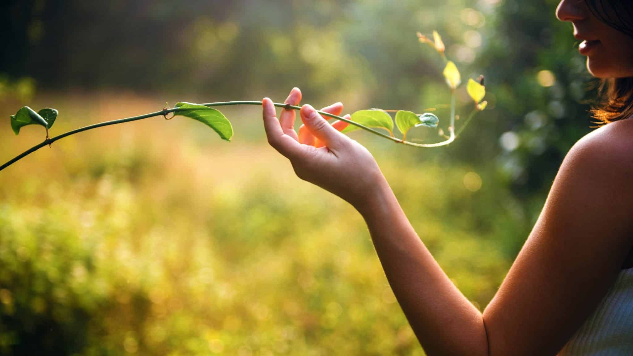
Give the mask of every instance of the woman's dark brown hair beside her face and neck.
MULTIPOLYGON (((633 37, 633 3, 629 0, 585 0, 589 10, 602 22, 633 37), (611 11, 606 9, 610 8, 611 11)), ((603 79, 601 99, 591 114, 601 124, 633 116, 633 77, 603 79)))

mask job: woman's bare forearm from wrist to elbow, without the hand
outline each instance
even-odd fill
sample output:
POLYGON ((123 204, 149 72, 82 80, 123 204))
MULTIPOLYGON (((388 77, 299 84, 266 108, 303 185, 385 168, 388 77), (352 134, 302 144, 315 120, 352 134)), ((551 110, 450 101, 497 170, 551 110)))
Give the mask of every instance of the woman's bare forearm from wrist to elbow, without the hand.
POLYGON ((444 274, 413 230, 389 184, 361 207, 380 263, 429 355, 487 355, 482 314, 444 274))

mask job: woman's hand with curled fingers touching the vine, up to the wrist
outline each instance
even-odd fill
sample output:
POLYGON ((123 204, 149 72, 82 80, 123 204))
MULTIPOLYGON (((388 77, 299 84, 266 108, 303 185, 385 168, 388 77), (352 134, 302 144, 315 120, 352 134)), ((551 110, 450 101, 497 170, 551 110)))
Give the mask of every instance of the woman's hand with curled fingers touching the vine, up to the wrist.
MULTIPOLYGON (((292 89, 285 104, 299 105, 301 91, 292 89)), ((340 115, 341 103, 322 111, 340 115)), ((340 130, 348 123, 330 124, 310 105, 301 108, 299 135, 294 130, 294 110, 282 110, 277 119, 275 106, 263 99, 263 120, 268 143, 292 163, 297 176, 348 201, 357 210, 366 207, 380 193, 384 177, 372 154, 340 130)), ((349 118, 349 115, 346 115, 349 118)))

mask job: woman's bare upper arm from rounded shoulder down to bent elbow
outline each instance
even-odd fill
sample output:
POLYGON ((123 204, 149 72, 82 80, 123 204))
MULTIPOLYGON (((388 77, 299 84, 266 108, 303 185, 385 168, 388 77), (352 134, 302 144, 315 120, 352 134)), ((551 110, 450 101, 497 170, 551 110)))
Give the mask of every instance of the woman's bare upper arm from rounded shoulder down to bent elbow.
POLYGON ((614 124, 581 139, 565 157, 484 312, 490 355, 555 355, 615 281, 633 245, 633 145, 614 124))

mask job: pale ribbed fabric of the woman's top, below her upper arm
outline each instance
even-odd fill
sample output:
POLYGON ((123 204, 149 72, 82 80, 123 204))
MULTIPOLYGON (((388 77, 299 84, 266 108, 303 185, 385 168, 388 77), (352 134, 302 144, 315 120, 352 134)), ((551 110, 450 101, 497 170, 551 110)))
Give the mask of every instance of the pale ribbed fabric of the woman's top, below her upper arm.
POLYGON ((633 355, 633 268, 620 271, 596 311, 558 356, 633 355))

